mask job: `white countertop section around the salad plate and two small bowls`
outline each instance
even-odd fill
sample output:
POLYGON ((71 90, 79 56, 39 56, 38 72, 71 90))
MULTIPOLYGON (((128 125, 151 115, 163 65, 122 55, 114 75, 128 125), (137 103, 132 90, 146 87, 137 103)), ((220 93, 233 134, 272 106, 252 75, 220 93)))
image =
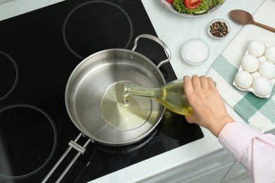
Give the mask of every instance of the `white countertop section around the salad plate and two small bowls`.
POLYGON ((154 29, 160 39, 162 39, 171 49, 171 65, 178 78, 183 75, 204 75, 210 68, 219 53, 231 42, 231 39, 240 31, 243 25, 237 25, 228 17, 229 11, 233 9, 244 9, 254 13, 263 1, 255 1, 250 4, 247 1, 225 1, 224 4, 212 13, 197 17, 187 18, 176 15, 166 10, 159 0, 142 0, 149 15, 154 29), (213 39, 207 33, 207 25, 215 18, 222 18, 231 25, 231 32, 224 39, 213 39), (190 38, 203 39, 210 47, 210 55, 202 65, 188 65, 181 58, 181 46, 190 38))

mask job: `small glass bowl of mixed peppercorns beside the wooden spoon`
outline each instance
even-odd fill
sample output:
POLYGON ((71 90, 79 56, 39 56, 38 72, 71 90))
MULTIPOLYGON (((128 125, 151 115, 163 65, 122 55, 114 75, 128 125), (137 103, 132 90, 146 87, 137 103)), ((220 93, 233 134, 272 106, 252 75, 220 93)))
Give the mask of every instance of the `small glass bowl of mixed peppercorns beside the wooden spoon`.
POLYGON ((207 27, 208 34, 215 39, 223 39, 230 32, 230 25, 224 19, 214 19, 207 27))

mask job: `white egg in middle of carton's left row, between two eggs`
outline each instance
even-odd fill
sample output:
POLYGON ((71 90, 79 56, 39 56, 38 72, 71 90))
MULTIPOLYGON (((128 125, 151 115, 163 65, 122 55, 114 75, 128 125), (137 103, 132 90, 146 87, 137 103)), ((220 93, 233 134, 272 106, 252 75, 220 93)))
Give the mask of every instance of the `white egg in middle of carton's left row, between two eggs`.
POLYGON ((256 72, 259 68, 259 60, 255 56, 245 55, 240 61, 240 65, 242 65, 243 70, 247 72, 256 72))

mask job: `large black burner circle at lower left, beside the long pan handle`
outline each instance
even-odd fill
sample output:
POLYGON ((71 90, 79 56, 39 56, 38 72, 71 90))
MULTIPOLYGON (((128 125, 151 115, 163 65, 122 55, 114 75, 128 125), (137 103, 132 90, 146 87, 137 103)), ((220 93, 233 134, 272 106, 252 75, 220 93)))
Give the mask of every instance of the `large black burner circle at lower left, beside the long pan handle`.
POLYGON ((0 177, 34 175, 53 156, 56 141, 54 122, 40 108, 16 104, 0 109, 0 177))

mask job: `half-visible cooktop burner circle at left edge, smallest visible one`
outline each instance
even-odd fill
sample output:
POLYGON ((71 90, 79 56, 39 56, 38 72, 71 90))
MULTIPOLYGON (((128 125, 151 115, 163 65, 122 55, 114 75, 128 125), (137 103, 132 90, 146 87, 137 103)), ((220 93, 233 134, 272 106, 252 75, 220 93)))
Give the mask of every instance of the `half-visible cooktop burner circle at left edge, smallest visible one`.
POLYGON ((4 51, 0 51, 0 101, 13 92, 18 77, 19 71, 16 61, 4 51))

